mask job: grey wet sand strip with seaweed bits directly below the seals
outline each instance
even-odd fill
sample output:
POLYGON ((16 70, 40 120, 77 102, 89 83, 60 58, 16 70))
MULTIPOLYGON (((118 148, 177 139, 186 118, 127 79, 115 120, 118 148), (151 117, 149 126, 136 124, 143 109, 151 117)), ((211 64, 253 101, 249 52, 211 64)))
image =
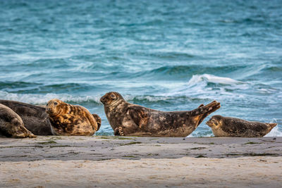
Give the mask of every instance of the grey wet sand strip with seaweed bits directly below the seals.
POLYGON ((0 137, 0 161, 282 156, 282 137, 0 137), (164 152, 166 151, 166 152, 164 152))

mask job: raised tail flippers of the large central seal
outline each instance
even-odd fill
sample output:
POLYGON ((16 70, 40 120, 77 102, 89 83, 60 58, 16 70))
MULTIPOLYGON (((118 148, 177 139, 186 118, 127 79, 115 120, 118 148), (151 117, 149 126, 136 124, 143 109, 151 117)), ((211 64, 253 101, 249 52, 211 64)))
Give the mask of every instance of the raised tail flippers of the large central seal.
POLYGON ((220 107, 221 107, 220 103, 217 101, 212 101, 210 104, 207 104, 206 106, 201 104, 198 108, 191 111, 191 115, 195 115, 200 118, 198 123, 198 125, 200 125, 200 123, 202 123, 204 118, 207 118, 207 115, 213 113, 214 111, 217 111, 220 107))

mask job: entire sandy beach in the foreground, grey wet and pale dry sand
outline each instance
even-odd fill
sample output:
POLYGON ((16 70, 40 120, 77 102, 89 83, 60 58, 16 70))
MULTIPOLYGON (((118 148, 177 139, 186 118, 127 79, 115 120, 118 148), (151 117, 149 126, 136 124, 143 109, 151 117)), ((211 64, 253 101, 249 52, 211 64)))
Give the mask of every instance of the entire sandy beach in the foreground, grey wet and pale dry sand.
POLYGON ((0 138, 0 187, 281 187, 282 137, 0 138))

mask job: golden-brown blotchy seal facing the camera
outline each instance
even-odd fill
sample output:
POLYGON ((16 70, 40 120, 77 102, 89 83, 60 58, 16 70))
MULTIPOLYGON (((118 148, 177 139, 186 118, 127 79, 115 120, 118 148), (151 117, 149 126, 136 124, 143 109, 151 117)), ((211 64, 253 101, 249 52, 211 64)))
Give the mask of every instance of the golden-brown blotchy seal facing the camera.
POLYGON ((101 118, 97 114, 92 115, 82 106, 67 104, 59 99, 48 101, 46 112, 55 135, 89 136, 101 126, 101 118))

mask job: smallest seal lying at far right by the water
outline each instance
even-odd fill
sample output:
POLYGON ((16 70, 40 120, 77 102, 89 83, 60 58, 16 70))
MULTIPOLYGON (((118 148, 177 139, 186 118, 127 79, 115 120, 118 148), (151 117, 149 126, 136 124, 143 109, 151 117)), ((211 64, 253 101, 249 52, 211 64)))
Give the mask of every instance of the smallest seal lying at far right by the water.
POLYGON ((216 137, 263 137, 277 123, 260 123, 214 115, 207 121, 216 137))

